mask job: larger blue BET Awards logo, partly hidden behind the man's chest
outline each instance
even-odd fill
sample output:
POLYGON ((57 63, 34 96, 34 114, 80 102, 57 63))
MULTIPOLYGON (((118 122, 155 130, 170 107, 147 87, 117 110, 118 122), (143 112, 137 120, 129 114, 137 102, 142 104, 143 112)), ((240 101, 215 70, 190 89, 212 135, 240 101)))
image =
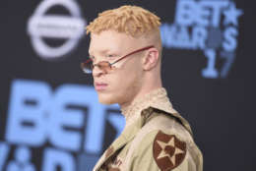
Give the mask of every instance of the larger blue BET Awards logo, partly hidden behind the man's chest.
POLYGON ((6 125, 0 125, 0 171, 93 170, 106 141, 124 128, 118 105, 99 104, 92 86, 52 89, 15 80, 10 88, 6 125))

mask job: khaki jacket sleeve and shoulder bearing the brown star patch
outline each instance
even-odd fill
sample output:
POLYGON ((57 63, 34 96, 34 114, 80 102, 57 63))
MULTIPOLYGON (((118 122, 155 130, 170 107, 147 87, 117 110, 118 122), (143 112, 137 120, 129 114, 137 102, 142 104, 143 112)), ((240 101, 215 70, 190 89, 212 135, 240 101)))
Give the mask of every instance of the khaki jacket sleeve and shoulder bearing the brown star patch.
POLYGON ((129 153, 129 167, 135 170, 201 170, 202 167, 201 152, 190 133, 174 117, 164 113, 149 118, 129 153))

